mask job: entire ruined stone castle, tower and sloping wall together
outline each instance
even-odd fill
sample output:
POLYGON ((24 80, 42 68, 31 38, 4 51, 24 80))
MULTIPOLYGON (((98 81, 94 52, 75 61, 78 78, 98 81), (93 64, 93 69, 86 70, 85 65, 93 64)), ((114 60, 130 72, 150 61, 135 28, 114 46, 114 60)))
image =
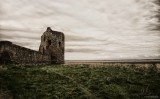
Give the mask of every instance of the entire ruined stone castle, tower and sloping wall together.
POLYGON ((0 63, 63 64, 64 34, 50 27, 41 36, 39 51, 31 50, 10 41, 0 41, 0 63))

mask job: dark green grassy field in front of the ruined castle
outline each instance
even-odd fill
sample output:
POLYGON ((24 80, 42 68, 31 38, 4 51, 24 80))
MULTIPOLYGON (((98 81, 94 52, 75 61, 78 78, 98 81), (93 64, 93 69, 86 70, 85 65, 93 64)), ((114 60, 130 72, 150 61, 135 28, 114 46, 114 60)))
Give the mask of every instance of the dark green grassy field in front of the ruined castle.
POLYGON ((159 99, 154 65, 0 66, 0 99, 159 99))

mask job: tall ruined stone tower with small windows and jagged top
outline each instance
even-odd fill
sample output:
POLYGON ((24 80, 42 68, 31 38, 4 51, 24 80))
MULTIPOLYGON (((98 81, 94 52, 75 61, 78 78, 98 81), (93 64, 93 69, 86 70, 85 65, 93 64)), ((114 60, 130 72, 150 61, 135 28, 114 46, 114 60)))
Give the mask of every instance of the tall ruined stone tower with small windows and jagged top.
POLYGON ((50 27, 41 36, 39 51, 51 56, 52 64, 64 63, 64 34, 53 31, 50 27))

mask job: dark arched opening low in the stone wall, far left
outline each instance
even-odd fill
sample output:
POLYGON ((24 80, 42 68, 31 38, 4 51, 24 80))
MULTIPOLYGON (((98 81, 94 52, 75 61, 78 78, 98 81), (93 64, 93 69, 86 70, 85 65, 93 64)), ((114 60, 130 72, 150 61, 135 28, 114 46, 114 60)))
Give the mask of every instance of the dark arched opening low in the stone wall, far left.
POLYGON ((9 52, 4 51, 0 53, 0 64, 9 64, 11 63, 11 57, 9 52))

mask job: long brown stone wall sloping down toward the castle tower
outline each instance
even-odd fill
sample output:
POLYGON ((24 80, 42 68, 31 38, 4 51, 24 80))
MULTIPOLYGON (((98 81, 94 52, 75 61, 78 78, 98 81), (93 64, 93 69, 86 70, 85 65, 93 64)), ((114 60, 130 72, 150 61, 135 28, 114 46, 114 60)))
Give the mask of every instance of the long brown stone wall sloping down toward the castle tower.
POLYGON ((0 63, 49 64, 51 57, 9 41, 0 41, 0 63))

